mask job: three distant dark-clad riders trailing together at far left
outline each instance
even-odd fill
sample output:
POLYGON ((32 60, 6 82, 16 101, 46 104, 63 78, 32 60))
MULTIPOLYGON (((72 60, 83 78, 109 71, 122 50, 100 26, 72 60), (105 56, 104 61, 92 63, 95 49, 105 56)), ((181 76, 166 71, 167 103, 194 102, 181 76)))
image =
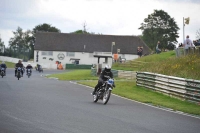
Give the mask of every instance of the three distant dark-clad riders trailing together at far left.
MULTIPOLYGON (((24 71, 23 71, 24 68, 26 68, 26 73, 28 73, 28 69, 30 69, 30 70, 33 69, 33 67, 31 66, 30 63, 28 63, 28 65, 27 65, 26 67, 24 67, 24 65, 22 64, 22 61, 19 60, 18 63, 15 64, 15 76, 16 76, 16 74, 17 74, 17 68, 19 68, 19 67, 20 67, 21 70, 22 70, 22 71, 21 71, 22 76, 23 76, 23 74, 24 74, 24 71)), ((6 66, 6 64, 5 64, 4 61, 3 61, 3 62, 1 63, 1 65, 0 65, 0 71, 1 71, 1 68, 4 68, 4 70, 5 70, 5 76, 6 76, 6 68, 7 68, 7 66, 6 66)), ((32 71, 31 71, 31 73, 32 73, 32 71)))

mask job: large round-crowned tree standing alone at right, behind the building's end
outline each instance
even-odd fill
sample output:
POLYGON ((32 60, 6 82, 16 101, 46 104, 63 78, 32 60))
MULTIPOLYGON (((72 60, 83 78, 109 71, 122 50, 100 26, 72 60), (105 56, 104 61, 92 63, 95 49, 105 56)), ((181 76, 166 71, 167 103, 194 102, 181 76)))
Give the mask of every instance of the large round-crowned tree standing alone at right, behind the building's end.
POLYGON ((142 39, 151 48, 155 49, 157 41, 162 43, 163 48, 167 48, 168 42, 177 42, 179 27, 174 18, 163 10, 154 10, 141 23, 142 39))

